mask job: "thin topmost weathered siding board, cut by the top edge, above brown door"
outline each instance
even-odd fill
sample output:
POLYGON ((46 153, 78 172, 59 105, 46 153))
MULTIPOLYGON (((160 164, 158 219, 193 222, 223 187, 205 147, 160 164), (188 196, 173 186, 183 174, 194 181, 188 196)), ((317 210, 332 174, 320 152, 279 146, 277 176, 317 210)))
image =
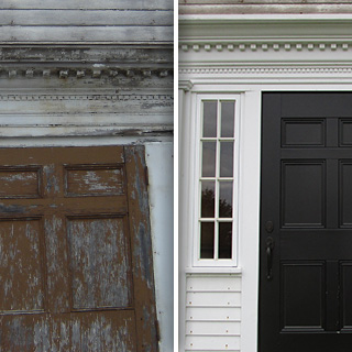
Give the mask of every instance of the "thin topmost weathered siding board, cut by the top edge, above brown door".
POLYGON ((173 9, 173 0, 0 0, 0 9, 173 9))

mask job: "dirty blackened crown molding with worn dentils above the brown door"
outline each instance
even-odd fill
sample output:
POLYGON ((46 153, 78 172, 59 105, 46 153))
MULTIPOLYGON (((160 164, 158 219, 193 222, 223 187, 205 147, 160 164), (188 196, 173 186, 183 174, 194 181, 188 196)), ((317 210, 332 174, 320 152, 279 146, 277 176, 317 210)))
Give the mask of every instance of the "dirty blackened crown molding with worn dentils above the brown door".
POLYGON ((1 78, 173 75, 173 47, 160 45, 0 45, 1 78))

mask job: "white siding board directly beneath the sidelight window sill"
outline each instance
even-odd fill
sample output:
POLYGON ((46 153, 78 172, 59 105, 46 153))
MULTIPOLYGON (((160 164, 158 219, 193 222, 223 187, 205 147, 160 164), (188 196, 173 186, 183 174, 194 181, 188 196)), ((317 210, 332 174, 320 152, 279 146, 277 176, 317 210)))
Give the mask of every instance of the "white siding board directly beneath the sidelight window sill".
POLYGON ((212 276, 190 276, 187 278, 187 290, 240 290, 241 289, 241 277, 223 277, 212 276))

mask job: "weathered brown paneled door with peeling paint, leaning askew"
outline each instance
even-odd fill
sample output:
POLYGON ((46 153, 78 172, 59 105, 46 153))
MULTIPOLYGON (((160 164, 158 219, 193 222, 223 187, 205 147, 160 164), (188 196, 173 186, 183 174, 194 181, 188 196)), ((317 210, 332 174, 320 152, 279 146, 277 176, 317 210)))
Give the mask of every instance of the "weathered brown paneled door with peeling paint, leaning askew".
POLYGON ((157 351, 144 148, 0 163, 0 351, 157 351))

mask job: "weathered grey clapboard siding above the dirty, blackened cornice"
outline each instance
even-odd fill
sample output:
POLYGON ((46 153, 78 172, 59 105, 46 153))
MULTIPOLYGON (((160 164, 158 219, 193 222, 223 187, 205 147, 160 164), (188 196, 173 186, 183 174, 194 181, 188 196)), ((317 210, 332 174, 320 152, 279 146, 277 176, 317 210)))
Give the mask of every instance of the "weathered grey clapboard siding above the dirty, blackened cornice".
POLYGON ((173 42, 170 0, 0 0, 3 43, 173 42))

